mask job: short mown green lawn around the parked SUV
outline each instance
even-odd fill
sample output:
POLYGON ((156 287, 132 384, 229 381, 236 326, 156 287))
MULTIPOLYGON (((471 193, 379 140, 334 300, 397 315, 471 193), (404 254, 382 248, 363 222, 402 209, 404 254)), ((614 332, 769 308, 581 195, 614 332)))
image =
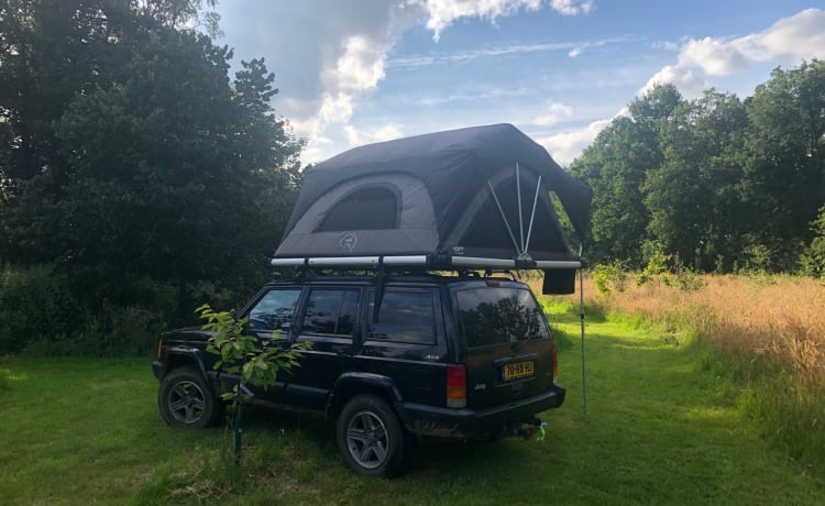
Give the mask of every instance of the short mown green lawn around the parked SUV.
POLYGON ((583 422, 578 310, 549 309, 568 402, 544 441, 425 441, 395 481, 348 471, 328 422, 265 410, 237 470, 224 429, 163 425, 148 360, 7 359, 0 503, 821 504, 822 470, 760 438, 681 336, 588 322, 583 422))

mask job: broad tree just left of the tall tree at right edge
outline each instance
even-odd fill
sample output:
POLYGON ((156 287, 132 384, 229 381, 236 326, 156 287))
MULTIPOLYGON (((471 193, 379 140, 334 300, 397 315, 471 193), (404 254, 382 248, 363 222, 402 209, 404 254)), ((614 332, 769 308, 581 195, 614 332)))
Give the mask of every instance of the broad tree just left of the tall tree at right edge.
POLYGON ((747 222, 738 200, 747 117, 734 95, 705 91, 680 105, 662 130, 661 168, 648 172, 650 234, 688 265, 728 268, 747 222))

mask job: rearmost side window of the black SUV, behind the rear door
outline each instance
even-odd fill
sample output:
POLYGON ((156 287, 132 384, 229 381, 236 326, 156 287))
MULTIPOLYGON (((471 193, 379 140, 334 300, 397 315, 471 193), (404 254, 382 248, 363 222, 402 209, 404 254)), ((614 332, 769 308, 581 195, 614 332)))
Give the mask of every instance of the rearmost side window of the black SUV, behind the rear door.
POLYGON ((384 292, 378 321, 373 321, 375 290, 370 292, 367 339, 414 344, 436 342, 436 316, 431 289, 394 289, 384 292))

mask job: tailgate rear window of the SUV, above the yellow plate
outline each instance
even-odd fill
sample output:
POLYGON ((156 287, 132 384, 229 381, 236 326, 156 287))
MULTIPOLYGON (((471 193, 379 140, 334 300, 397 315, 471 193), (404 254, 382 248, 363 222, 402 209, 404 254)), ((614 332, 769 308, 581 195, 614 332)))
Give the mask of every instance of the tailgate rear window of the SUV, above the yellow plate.
POLYGON ((526 289, 479 287, 455 297, 470 348, 550 337, 541 308, 526 289))

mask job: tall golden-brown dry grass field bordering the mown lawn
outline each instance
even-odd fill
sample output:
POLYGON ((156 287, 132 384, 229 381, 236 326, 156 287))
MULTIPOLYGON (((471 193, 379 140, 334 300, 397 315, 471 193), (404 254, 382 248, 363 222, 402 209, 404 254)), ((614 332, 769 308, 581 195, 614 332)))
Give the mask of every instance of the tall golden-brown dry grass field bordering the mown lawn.
MULTIPOLYGON (((702 276, 681 290, 653 280, 587 304, 691 333, 746 385, 740 406, 795 454, 825 461, 825 285, 791 276, 702 276)), ((539 287, 540 288, 540 287, 539 287)), ((578 296, 576 296, 578 297, 578 296)))

